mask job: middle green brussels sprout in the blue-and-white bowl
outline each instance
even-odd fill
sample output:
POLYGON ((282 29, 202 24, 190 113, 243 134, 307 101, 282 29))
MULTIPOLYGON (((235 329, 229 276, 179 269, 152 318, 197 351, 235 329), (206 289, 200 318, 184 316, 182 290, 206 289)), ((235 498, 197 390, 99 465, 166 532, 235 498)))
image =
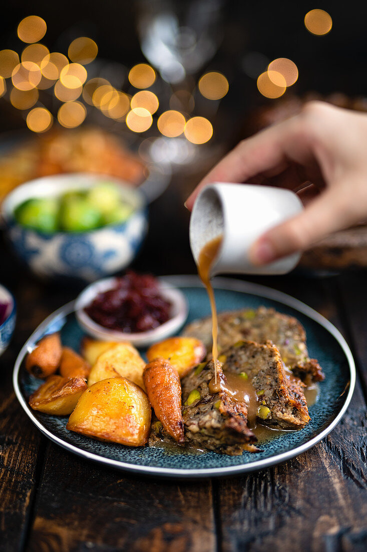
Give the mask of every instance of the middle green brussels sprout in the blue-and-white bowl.
POLYGON ((70 198, 60 213, 60 225, 67 232, 93 230, 101 225, 101 214, 87 199, 70 198))

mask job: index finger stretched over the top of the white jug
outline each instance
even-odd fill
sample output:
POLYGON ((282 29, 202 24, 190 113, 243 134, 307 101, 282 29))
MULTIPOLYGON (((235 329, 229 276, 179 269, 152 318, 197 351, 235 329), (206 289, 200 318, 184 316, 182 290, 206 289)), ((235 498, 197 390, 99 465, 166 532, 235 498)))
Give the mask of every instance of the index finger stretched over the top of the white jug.
POLYGON ((296 162, 310 157, 299 118, 283 121, 240 142, 203 178, 185 205, 191 210, 198 193, 209 183, 246 182, 260 173, 272 177, 284 171, 293 157, 296 162))

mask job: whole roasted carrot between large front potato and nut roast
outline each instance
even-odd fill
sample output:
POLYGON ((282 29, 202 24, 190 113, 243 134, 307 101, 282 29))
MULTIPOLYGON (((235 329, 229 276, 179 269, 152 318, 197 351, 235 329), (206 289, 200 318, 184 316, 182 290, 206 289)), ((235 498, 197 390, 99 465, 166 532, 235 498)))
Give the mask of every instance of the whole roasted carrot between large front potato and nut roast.
POLYGON ((181 414, 181 382, 177 370, 164 359, 156 359, 144 370, 144 383, 155 416, 177 442, 184 442, 181 414))

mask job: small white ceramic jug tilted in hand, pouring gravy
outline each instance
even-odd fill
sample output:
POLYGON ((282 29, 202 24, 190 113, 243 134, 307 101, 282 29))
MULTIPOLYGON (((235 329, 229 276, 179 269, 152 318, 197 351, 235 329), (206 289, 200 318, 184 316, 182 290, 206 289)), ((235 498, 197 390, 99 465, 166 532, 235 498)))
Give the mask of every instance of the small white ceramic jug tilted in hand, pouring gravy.
POLYGON ((190 245, 198 262, 206 243, 222 235, 211 275, 285 274, 300 259, 294 253, 270 264, 255 267, 250 261, 251 245, 273 226, 298 215, 303 205, 292 190, 255 184, 215 182, 196 198, 190 219, 190 245))

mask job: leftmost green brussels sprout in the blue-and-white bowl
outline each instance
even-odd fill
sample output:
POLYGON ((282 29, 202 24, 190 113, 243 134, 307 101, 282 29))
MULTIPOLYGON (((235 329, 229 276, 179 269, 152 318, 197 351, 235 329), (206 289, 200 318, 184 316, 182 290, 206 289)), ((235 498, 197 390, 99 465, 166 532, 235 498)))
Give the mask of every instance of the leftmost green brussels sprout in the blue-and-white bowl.
POLYGON ((15 210, 15 219, 22 226, 55 232, 57 230, 58 202, 53 198, 29 199, 15 210))

